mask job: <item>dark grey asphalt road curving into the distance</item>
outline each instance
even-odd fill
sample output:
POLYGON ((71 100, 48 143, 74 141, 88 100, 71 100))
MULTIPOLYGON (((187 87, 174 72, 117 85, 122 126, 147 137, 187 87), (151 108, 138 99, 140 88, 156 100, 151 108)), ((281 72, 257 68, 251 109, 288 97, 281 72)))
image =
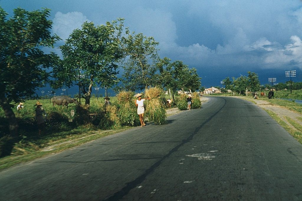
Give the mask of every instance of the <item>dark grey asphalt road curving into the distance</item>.
POLYGON ((0 172, 0 200, 302 200, 302 145, 255 104, 201 109, 0 172))

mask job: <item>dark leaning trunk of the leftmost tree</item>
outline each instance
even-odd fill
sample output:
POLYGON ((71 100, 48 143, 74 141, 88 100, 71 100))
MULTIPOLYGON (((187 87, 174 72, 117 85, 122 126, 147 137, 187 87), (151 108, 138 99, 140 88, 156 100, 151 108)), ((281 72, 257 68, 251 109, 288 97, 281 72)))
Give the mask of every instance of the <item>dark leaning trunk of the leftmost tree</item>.
POLYGON ((9 125, 9 133, 11 135, 11 137, 18 137, 18 122, 16 120, 16 116, 13 112, 13 110, 11 109, 11 105, 9 105, 9 103, 7 102, 7 100, 5 98, 1 98, 1 107, 4 111, 5 114, 5 118, 8 121, 8 125, 9 125))

